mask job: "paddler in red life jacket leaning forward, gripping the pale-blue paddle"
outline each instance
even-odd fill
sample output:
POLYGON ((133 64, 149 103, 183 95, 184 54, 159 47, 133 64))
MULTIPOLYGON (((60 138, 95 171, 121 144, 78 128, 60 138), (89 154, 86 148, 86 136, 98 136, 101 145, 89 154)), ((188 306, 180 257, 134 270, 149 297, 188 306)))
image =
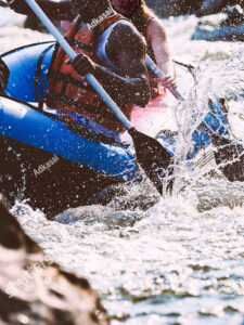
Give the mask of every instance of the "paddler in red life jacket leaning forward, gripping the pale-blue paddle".
POLYGON ((86 128, 117 138, 124 127, 82 76, 92 74, 130 118, 134 105, 144 107, 151 99, 145 43, 108 0, 74 0, 73 5, 77 17, 65 37, 77 55, 70 61, 59 47, 49 73, 46 104, 49 112, 75 118, 78 114, 86 128), (94 20, 98 24, 91 28, 94 20))

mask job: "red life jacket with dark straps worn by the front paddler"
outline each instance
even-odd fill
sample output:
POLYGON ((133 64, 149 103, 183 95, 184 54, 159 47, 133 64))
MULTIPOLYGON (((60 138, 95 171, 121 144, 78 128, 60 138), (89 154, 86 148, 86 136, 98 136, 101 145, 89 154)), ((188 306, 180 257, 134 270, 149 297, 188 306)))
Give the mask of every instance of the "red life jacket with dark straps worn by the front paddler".
MULTIPOLYGON (((80 26, 80 17, 77 17, 65 34, 76 53, 84 53, 93 62, 101 64, 95 55, 97 40, 102 32, 115 22, 124 20, 119 14, 106 17, 95 28, 89 29, 80 26)), ((99 94, 93 90, 85 77, 80 77, 70 64, 66 64, 67 54, 59 48, 53 57, 49 72, 49 88, 46 103, 51 108, 59 108, 67 113, 78 113, 92 118, 103 127, 124 131, 125 128, 117 120, 99 94)), ((127 118, 130 119, 132 105, 116 102, 127 118)))

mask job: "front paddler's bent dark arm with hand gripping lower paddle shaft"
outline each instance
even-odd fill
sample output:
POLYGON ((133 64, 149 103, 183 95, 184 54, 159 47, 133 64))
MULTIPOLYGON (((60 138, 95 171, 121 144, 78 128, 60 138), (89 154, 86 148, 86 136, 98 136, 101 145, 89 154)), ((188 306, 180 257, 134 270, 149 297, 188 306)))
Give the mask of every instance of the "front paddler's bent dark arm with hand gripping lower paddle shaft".
POLYGON ((119 73, 98 65, 82 54, 74 58, 73 66, 82 76, 93 74, 113 99, 144 107, 150 101, 150 83, 143 41, 130 26, 117 25, 115 29, 106 51, 119 73))

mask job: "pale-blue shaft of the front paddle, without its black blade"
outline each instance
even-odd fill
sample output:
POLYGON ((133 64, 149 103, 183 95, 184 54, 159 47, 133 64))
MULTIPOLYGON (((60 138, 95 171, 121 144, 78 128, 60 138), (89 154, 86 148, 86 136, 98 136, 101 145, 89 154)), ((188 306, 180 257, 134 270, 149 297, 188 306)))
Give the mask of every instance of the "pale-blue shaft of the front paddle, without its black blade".
MULTIPOLYGON (((72 49, 72 47, 66 42, 64 37, 60 34, 60 31, 53 26, 49 17, 43 13, 41 8, 36 3, 35 0, 25 0, 26 3, 31 8, 35 14, 39 17, 39 20, 43 23, 50 34, 56 39, 62 49, 66 52, 66 54, 73 60, 76 56, 76 52, 72 49)), ((99 81, 92 76, 88 74, 85 76, 88 82, 93 87, 95 92, 103 99, 103 101, 107 104, 111 110, 115 114, 118 120, 124 125, 127 130, 132 129, 132 125, 125 116, 125 114, 119 109, 116 103, 112 100, 112 98, 107 94, 104 88, 99 83, 99 81)))

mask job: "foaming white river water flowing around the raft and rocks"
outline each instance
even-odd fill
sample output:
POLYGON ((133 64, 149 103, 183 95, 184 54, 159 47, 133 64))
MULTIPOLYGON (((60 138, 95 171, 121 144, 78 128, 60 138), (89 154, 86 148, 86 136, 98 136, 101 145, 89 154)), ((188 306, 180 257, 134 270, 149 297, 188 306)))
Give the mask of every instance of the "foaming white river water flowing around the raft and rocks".
MULTIPOLYGON (((51 39, 20 28, 5 9, 0 15, 1 53, 51 39)), ((244 141, 244 43, 192 41, 196 24, 194 16, 165 21, 172 56, 196 67, 180 127, 214 91, 228 100, 233 136, 244 141)), ((13 212, 54 261, 89 278, 113 325, 244 324, 244 183, 218 170, 183 174, 183 190, 162 199, 145 183, 55 221, 23 203, 13 212)))

